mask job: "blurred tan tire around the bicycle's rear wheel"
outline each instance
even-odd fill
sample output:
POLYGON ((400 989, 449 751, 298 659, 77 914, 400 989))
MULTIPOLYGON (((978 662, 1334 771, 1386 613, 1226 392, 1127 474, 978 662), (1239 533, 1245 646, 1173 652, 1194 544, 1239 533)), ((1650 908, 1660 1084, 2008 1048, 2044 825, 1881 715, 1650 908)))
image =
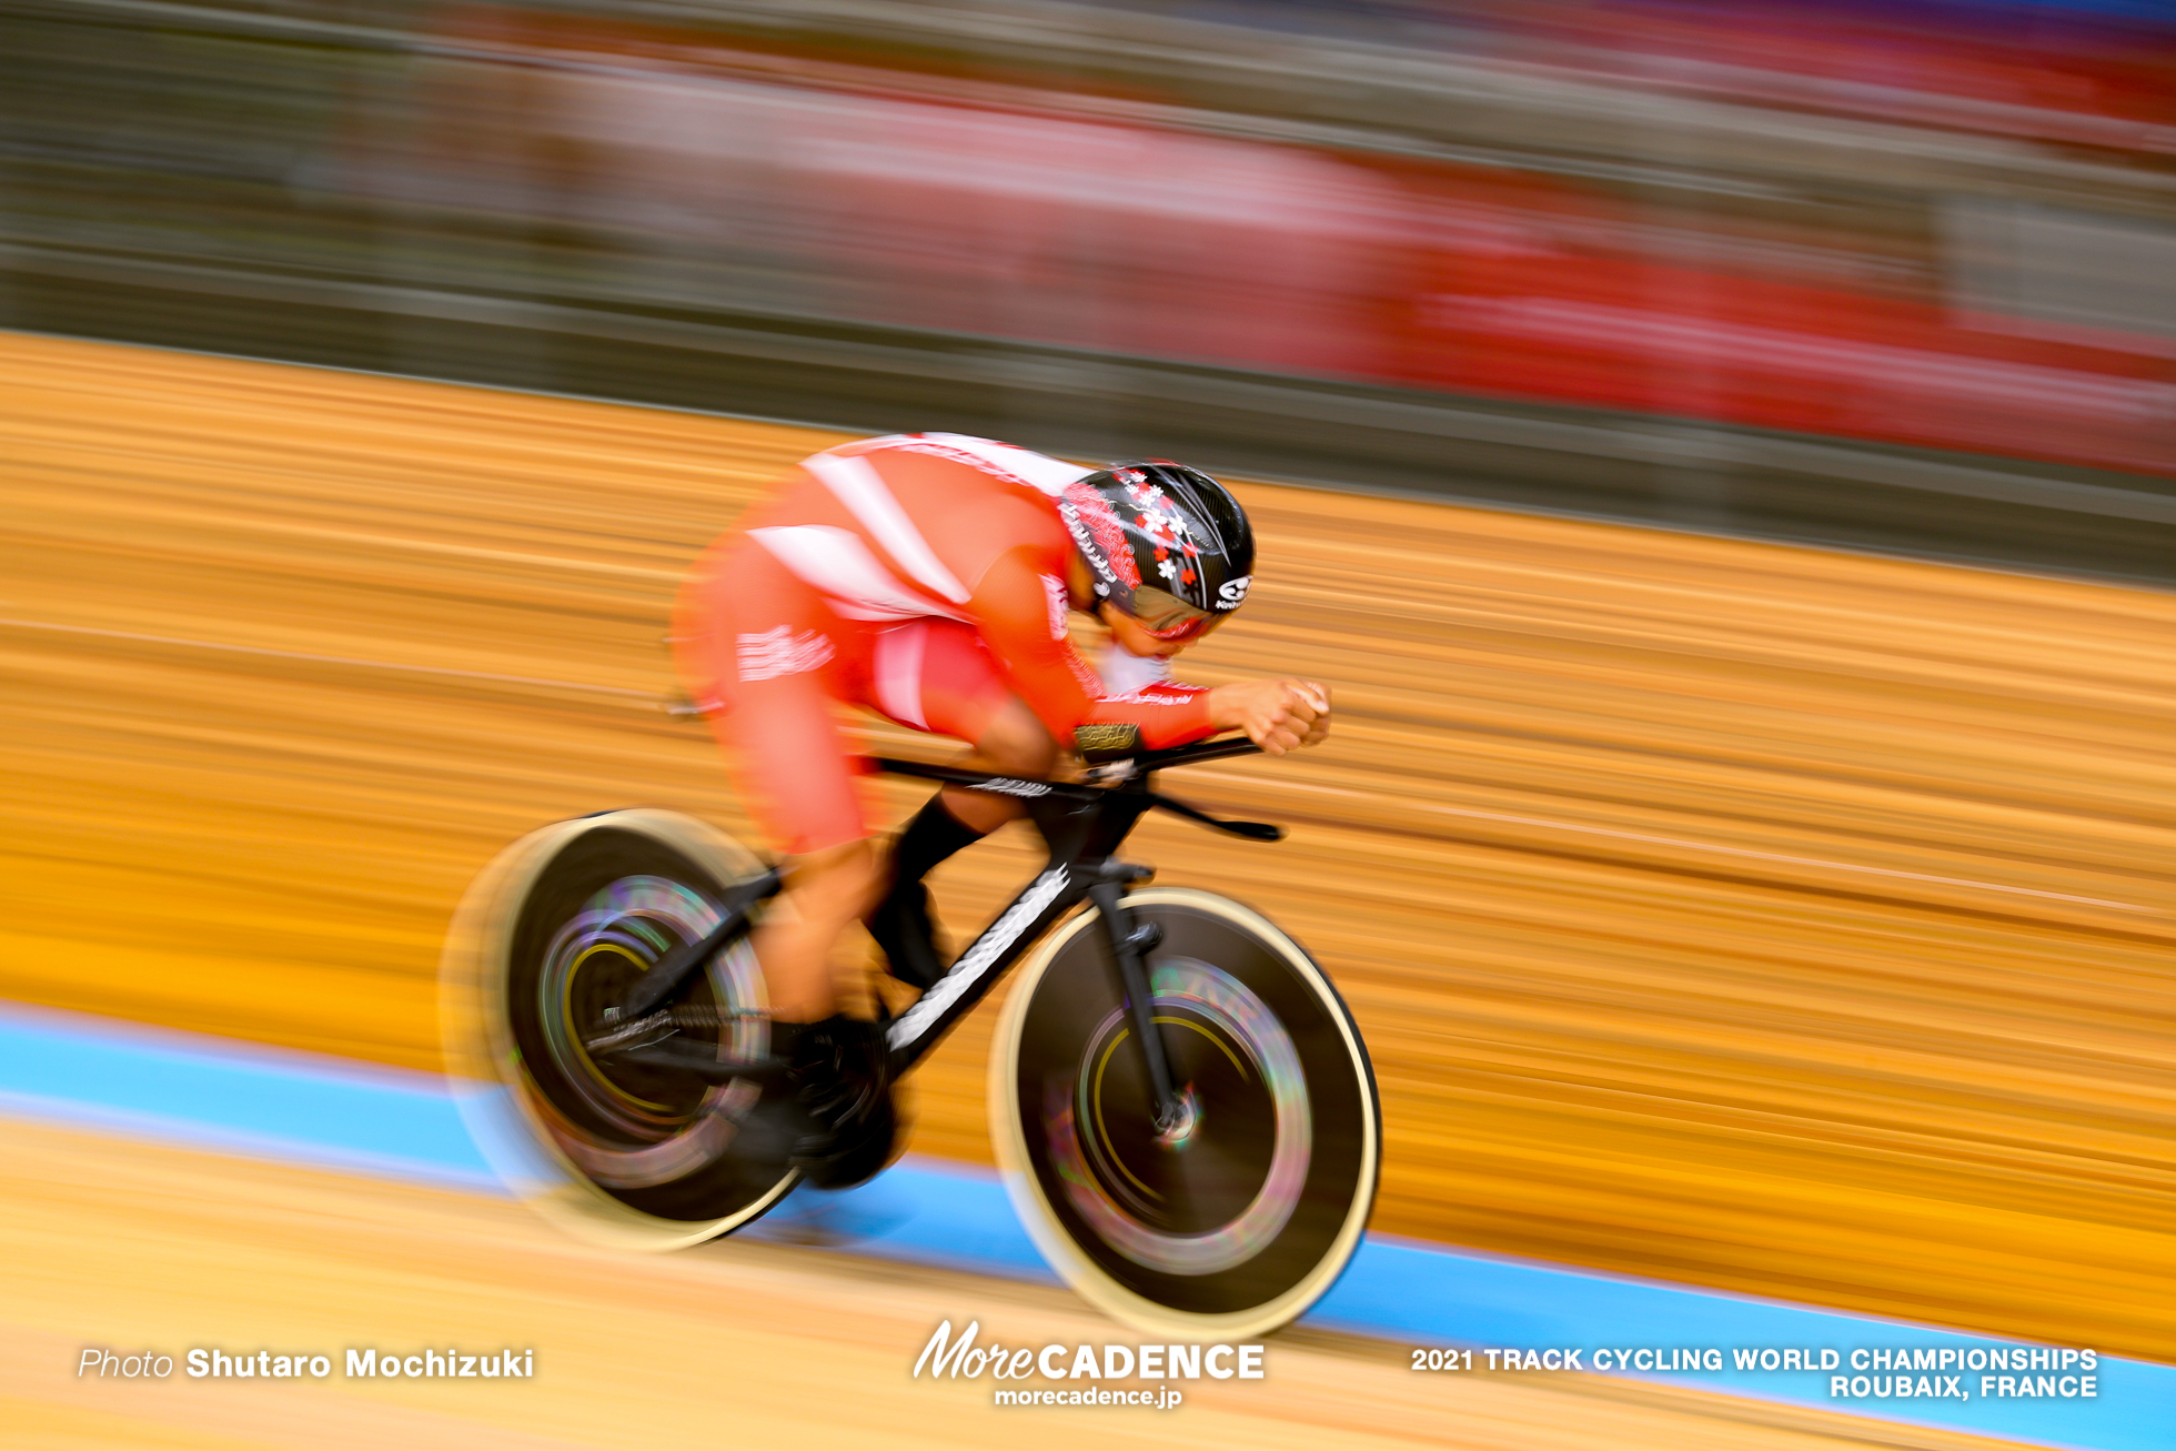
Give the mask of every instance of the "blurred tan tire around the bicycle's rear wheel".
MULTIPOLYGON (((520 1131, 557 1168, 542 1186, 518 1186, 522 1201, 561 1229, 614 1249, 670 1251, 714 1240, 770 1210, 799 1181, 788 1173, 755 1203, 716 1220, 670 1220, 633 1210, 574 1168, 529 1101, 520 1051, 505 1016, 507 957, 522 901, 542 870, 577 838, 601 831, 631 831, 651 838, 707 870, 720 883, 746 881, 764 870, 740 842, 679 811, 633 807, 540 827, 498 853, 461 896, 440 957, 440 1035, 446 1072, 457 1079, 498 1083, 520 1114, 520 1131)), ((479 1112, 463 1105, 463 1118, 479 1112)), ((503 1112, 503 1109, 500 1109, 503 1112)), ((485 1142, 485 1136, 470 1125, 485 1142)), ((505 1125, 500 1125, 505 1131, 505 1125)))

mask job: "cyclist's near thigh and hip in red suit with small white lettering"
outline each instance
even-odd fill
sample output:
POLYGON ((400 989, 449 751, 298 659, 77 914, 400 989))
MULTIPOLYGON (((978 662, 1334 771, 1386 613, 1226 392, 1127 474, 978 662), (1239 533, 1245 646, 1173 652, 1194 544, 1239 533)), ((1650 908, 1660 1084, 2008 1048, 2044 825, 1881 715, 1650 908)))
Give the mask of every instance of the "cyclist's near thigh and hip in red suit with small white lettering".
POLYGON ((868 835, 868 811, 838 703, 866 674, 866 635, 842 627, 759 544, 727 537, 696 566, 672 644, 690 696, 709 709, 727 768, 786 855, 868 835))

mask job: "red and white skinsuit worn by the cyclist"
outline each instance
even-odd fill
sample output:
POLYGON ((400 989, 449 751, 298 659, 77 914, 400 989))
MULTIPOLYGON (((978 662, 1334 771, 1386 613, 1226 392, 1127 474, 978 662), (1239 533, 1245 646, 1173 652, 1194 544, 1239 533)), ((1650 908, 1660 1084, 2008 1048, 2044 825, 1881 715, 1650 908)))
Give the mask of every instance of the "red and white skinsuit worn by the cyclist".
POLYGON ((836 703, 964 742, 1007 696, 1062 744, 1088 722, 1151 748, 1212 733, 1208 687, 1116 694, 1066 637, 1058 496, 1090 472, 955 433, 842 444, 696 561, 679 668, 777 851, 868 835, 836 703))

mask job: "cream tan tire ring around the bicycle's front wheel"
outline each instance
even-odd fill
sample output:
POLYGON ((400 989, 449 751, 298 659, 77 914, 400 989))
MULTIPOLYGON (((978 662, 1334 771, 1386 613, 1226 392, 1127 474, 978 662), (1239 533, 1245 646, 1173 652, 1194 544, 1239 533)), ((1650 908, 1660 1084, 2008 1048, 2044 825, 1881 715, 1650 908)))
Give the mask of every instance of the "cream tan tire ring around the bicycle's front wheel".
POLYGON ((1027 1133, 1021 1125, 1021 1101, 1016 1092, 1018 1083, 1018 1055, 1021 1055, 1021 1031, 1027 1020, 1027 1007, 1034 1001, 1036 988, 1042 975, 1058 959, 1058 953, 1079 933, 1097 927, 1097 911, 1090 907, 1073 916, 1058 931, 1053 931, 1034 955, 1021 968, 1018 981, 1005 999, 1005 1009, 997 1020, 997 1033, 990 1044, 990 1140, 997 1149, 999 1173, 1005 1179, 1005 1192, 1012 1196, 1012 1207, 1027 1225, 1029 1238, 1034 1238, 1036 1249, 1042 1257, 1051 1262, 1058 1275, 1073 1286, 1073 1290, 1086 1299, 1090 1305, 1142 1334, 1151 1336, 1190 1336, 1190 1338, 1219 1338, 1236 1340, 1245 1336, 1260 1336, 1279 1325, 1288 1325, 1299 1318, 1308 1305, 1323 1297, 1325 1290, 1345 1273, 1345 1264, 1351 1260, 1353 1251, 1360 1247, 1360 1233, 1367 1229, 1369 1212, 1375 1205, 1375 1177, 1382 1166, 1382 1123, 1375 1107, 1375 1083, 1373 1070, 1367 1062, 1367 1049, 1360 1042, 1358 1029, 1353 1029, 1351 1016, 1343 1009, 1336 990, 1330 985, 1330 977, 1314 966, 1308 953, 1293 942, 1275 922, 1242 907, 1227 896, 1216 896, 1214 892, 1201 892, 1197 888, 1145 888, 1140 892, 1127 892, 1127 903, 1142 907, 1153 905, 1184 905, 1206 911, 1210 916, 1223 918, 1242 931, 1253 933, 1269 946, 1277 951, 1279 957, 1299 975, 1330 1007, 1332 1020, 1338 1025, 1345 1051, 1353 1064, 1353 1070, 1362 1079, 1362 1157, 1360 1157, 1360 1192, 1353 1196, 1351 1210, 1345 1223, 1338 1227, 1336 1240, 1332 1240, 1330 1251, 1323 1260, 1308 1270, 1308 1275, 1286 1290, 1284 1294, 1264 1301, 1251 1310, 1238 1310, 1229 1314, 1195 1314, 1186 1310, 1171 1310, 1160 1305, 1134 1290, 1121 1286, 1101 1266, 1097 1266, 1088 1255, 1079 1251, 1073 1236, 1066 1233, 1058 1220, 1055 1210, 1042 1194, 1042 1183, 1036 1179, 1027 1159, 1027 1133))

